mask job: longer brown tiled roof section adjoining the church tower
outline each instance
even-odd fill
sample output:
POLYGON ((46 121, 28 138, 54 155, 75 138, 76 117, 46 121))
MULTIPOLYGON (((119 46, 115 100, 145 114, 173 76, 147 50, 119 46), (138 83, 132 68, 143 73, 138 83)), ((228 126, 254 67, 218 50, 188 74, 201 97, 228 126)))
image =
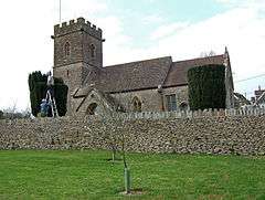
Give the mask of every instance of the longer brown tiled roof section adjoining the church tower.
POLYGON ((156 88, 163 83, 171 64, 172 59, 167 56, 106 66, 99 71, 95 86, 108 93, 156 88))

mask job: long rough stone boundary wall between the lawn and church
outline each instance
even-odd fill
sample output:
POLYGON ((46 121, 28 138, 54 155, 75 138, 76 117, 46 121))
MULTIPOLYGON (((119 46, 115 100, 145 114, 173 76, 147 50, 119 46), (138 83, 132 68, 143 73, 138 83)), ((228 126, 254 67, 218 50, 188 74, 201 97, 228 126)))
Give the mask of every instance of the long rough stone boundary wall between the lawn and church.
POLYGON ((136 152, 265 155, 265 109, 0 120, 0 149, 110 149, 121 135, 136 152))

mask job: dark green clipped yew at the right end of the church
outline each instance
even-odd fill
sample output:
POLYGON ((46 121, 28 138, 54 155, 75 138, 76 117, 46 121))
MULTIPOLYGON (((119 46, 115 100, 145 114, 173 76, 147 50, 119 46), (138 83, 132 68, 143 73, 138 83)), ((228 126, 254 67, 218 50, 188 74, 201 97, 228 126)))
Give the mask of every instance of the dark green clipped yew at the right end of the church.
POLYGON ((189 103, 192 110, 225 108, 225 66, 203 65, 188 71, 189 103))

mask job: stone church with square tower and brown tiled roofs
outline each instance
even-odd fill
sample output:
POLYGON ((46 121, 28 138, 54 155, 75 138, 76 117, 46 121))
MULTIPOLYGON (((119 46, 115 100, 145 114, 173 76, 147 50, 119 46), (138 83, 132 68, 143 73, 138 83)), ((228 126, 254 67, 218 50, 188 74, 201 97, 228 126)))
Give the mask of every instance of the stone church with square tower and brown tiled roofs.
POLYGON ((103 31, 84 18, 54 27, 55 77, 68 86, 67 115, 188 109, 189 69, 225 66, 226 107, 234 105, 227 50, 222 55, 173 62, 171 56, 103 66, 103 31))

